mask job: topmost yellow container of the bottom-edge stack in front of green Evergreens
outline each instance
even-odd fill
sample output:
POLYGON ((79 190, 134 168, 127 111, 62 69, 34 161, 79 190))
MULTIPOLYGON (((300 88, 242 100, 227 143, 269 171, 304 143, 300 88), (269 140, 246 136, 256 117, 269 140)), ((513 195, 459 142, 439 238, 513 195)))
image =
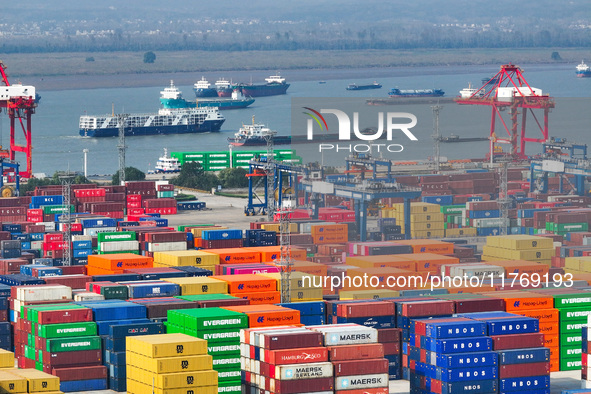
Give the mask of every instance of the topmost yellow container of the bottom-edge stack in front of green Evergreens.
POLYGON ((151 358, 207 354, 207 341, 185 334, 143 335, 126 338, 126 351, 151 358))

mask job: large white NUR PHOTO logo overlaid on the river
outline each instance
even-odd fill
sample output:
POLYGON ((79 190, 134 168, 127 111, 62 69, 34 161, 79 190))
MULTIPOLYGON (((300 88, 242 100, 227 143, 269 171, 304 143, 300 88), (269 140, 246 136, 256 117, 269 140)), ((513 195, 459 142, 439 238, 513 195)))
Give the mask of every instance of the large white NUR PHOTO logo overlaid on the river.
MULTIPOLYGON (((359 112, 353 112, 350 117, 345 111, 339 109, 325 109, 322 108, 319 111, 311 107, 302 107, 306 110, 305 115, 308 115, 306 124, 306 138, 308 141, 318 141, 319 152, 325 150, 333 150, 335 152, 348 151, 348 152, 370 152, 373 149, 387 150, 388 152, 396 153, 402 152, 404 146, 401 144, 379 144, 377 141, 383 139, 384 132, 387 141, 392 141, 395 132, 402 132, 410 141, 418 141, 418 138, 411 132, 411 128, 417 125, 417 117, 408 112, 378 112, 377 114, 377 129, 364 129, 359 128, 359 112), (338 121, 338 133, 334 136, 328 134, 328 122, 326 121, 323 114, 334 115, 338 121), (351 119, 352 118, 352 119, 351 119), (317 126, 315 126, 317 125, 317 126), (314 138, 314 128, 320 129, 323 132, 321 135, 314 138), (338 141, 366 141, 369 144, 347 144, 339 145, 334 143, 324 143, 327 141, 327 137, 337 137, 338 141)), ((332 141, 332 140, 331 140, 332 141)))

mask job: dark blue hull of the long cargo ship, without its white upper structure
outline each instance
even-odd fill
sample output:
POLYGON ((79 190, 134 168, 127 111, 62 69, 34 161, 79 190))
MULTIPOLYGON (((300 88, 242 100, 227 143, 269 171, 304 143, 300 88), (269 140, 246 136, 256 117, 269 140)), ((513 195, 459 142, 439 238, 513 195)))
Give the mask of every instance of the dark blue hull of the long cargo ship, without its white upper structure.
MULTIPOLYGON (((177 125, 177 126, 147 126, 147 127, 127 127, 125 136, 142 135, 167 135, 167 134, 195 134, 220 131, 225 119, 205 120, 200 125, 177 125)), ((102 129, 80 129, 80 136, 91 138, 117 137, 119 128, 107 127, 102 129)))

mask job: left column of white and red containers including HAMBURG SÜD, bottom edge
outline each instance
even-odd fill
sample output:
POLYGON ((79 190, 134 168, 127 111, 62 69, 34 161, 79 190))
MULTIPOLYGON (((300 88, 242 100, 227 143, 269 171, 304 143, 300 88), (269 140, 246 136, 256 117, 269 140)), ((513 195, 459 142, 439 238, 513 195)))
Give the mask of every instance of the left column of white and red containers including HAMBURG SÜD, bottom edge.
POLYGON ((296 326, 251 328, 240 332, 240 341, 247 392, 332 392, 333 368, 321 333, 296 326))

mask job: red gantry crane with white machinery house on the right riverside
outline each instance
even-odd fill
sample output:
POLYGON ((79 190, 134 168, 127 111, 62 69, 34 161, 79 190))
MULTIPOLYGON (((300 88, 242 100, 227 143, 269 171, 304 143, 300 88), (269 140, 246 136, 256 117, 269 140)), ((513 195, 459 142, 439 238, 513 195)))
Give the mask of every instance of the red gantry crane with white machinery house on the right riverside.
MULTIPOLYGON (((491 155, 497 151, 497 144, 510 144, 510 156, 514 160, 522 160, 526 142, 543 143, 548 140, 548 114, 554 108, 554 100, 541 89, 531 87, 523 77, 521 68, 514 64, 504 64, 501 70, 478 90, 465 89, 455 101, 459 104, 488 105, 491 110, 490 140, 491 155), (509 121, 506 122, 501 111, 508 109, 509 121), (534 110, 543 111, 540 122, 534 110), (541 138, 526 137, 527 113, 531 113, 541 138), (521 115, 521 124, 519 120, 521 115), (497 118, 507 133, 507 137, 499 137, 495 131, 497 118)), ((538 111, 539 112, 539 111, 538 111)), ((502 132, 502 130, 501 130, 502 132)))

